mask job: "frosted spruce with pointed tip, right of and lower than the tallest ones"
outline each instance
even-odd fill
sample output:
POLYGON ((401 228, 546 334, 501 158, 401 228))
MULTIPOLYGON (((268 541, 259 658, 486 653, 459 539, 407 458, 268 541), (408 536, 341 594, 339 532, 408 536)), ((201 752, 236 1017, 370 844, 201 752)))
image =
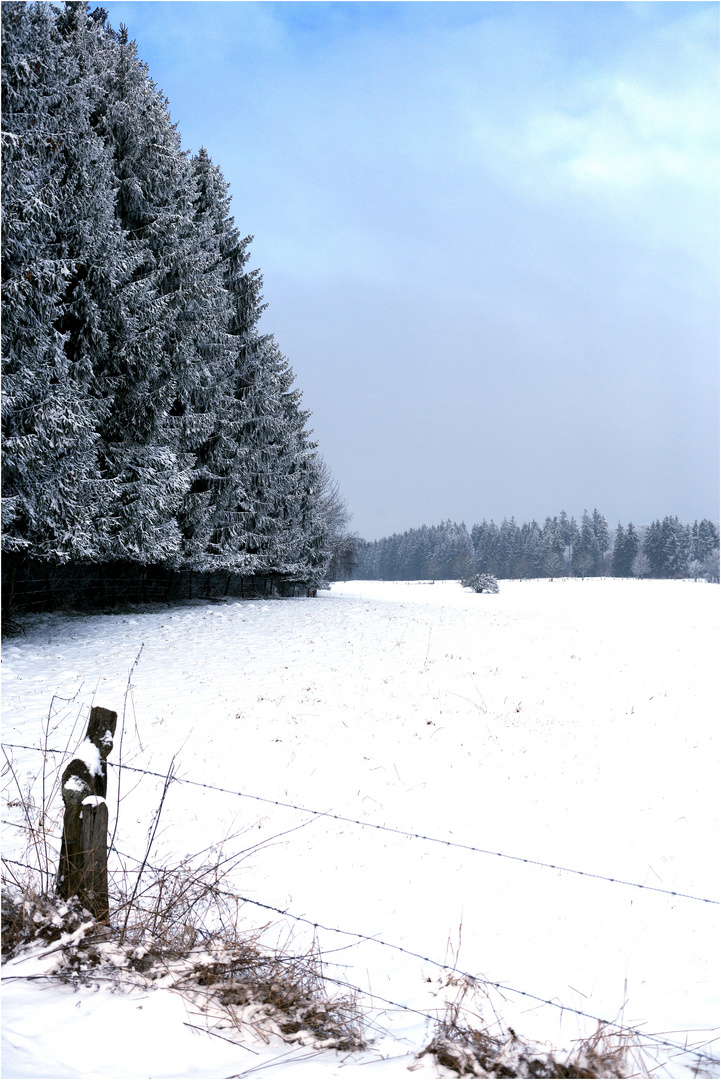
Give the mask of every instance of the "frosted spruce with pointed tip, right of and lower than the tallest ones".
POLYGON ((250 238, 242 240, 235 229, 228 185, 204 149, 191 171, 200 284, 196 280, 194 325, 183 328, 192 330, 194 356, 187 366, 194 380, 186 381, 172 409, 181 445, 194 460, 179 512, 183 556, 199 568, 233 565, 251 571, 268 549, 255 536, 259 527, 262 531, 258 522, 266 522, 255 491, 249 505, 253 484, 263 483, 254 451, 257 457, 261 444, 268 457, 267 447, 283 437, 283 363, 266 355, 268 339, 256 333, 260 278, 245 270, 250 238), (263 372, 266 362, 272 370, 263 372), (263 422, 268 394, 273 415, 263 422))

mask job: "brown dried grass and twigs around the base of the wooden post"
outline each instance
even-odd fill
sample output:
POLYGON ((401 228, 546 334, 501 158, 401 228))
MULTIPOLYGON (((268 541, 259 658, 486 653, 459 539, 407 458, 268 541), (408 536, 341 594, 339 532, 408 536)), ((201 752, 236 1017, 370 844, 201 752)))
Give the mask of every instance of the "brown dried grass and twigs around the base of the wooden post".
POLYGON ((98 923, 74 897, 8 882, 3 958, 35 948, 50 957, 49 977, 73 986, 111 981, 119 989, 178 990, 203 1014, 207 1030, 239 1042, 249 1029, 264 1042, 277 1037, 315 1049, 362 1050, 363 1012, 355 997, 328 991, 315 944, 302 955, 269 950, 259 945, 266 927, 239 929, 240 904, 219 888, 228 873, 223 862, 146 866, 150 880, 135 890, 131 917, 117 892, 121 902, 110 924, 98 923))

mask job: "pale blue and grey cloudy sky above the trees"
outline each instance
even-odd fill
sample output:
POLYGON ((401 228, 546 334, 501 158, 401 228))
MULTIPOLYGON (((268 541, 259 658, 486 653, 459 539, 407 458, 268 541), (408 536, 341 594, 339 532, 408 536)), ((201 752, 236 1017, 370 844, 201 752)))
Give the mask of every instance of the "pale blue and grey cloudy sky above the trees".
POLYGON ((367 539, 718 519, 706 2, 109 2, 367 539))

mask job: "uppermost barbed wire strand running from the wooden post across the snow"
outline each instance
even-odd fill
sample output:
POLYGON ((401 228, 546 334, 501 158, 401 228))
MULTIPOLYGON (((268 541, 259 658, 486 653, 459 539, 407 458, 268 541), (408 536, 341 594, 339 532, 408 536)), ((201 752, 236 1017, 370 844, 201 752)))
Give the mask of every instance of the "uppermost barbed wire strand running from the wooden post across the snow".
MULTIPOLYGON (((45 751, 41 746, 24 746, 21 743, 3 743, 11 750, 30 750, 38 753, 44 753, 45 751)), ((47 750, 49 754, 63 754, 64 751, 58 750, 47 750)), ((113 769, 118 769, 119 766, 114 761, 108 761, 113 769)), ((164 780, 165 774, 162 772, 153 772, 150 769, 138 769, 135 766, 123 765, 123 769, 128 769, 131 772, 139 772, 146 777, 155 777, 159 780, 164 780)), ((317 818, 329 818, 334 821, 342 821, 351 825, 359 825, 362 828, 375 828, 381 833, 393 833, 396 836, 406 836, 414 840, 425 840, 428 843, 439 843, 447 848, 458 848, 462 851, 473 851, 481 855, 493 855, 496 859, 508 859, 512 862, 525 863, 527 866, 542 866, 546 869, 560 870, 563 874, 574 874, 577 877, 593 878, 596 881, 607 881, 611 885, 622 885, 630 889, 643 889, 647 892, 658 892, 666 896, 676 896, 679 900, 693 900, 699 904, 719 904, 718 900, 709 900, 706 896, 694 896, 688 892, 678 892, 674 889, 661 889, 658 886, 653 885, 641 885, 639 881, 626 881, 624 878, 608 877, 603 874, 594 874, 590 870, 577 870, 570 866, 559 866, 555 863, 544 863, 538 859, 525 859, 522 855, 509 855, 504 851, 492 851, 489 848, 478 848, 471 843, 460 843, 457 840, 444 840, 437 836, 426 836, 423 833, 411 833, 404 828, 394 828, 392 825, 378 825, 370 821, 359 821, 357 818, 348 818, 344 814, 330 813, 328 810, 313 810, 310 807, 301 807, 295 802, 284 802, 281 799, 270 799, 262 795, 250 795, 248 792, 237 792, 229 787, 218 787, 215 784, 204 784, 200 780, 186 780, 180 777, 174 778, 174 783, 176 784, 190 784, 193 787, 204 787, 206 791, 220 792, 223 795, 233 795, 237 798, 253 799, 256 802, 264 802, 270 806, 283 807, 286 810, 297 810, 301 813, 310 813, 317 818)))

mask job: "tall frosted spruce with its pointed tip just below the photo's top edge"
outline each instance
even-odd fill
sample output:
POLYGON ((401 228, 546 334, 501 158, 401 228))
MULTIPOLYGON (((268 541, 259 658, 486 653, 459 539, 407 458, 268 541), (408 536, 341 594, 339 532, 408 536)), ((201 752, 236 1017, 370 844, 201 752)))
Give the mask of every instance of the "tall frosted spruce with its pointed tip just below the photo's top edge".
POLYGON ((195 293, 195 189, 167 102, 123 27, 96 130, 112 148, 115 215, 133 267, 103 372, 111 409, 100 460, 118 492, 108 555, 180 563, 177 515, 192 483, 194 427, 202 423, 192 417, 203 377, 194 341, 203 309, 195 293))

